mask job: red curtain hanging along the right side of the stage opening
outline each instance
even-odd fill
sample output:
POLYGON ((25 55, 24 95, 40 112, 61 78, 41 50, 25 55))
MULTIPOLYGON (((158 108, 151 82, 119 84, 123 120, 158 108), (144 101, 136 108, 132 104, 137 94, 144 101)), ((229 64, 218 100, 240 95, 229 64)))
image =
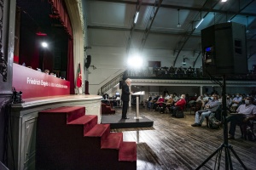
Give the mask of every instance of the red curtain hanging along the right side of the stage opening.
POLYGON ((67 49, 67 81, 70 82, 70 94, 74 94, 73 31, 71 22, 63 0, 49 0, 49 3, 54 10, 54 14, 58 15, 61 25, 64 26, 69 36, 67 49))

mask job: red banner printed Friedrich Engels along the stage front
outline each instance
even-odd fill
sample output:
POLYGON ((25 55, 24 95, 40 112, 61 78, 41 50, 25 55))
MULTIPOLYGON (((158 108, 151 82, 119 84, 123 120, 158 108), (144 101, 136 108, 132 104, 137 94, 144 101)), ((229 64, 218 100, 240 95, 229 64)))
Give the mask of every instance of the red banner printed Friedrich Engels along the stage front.
POLYGON ((70 82, 15 63, 13 87, 22 91, 22 99, 70 94, 70 82))

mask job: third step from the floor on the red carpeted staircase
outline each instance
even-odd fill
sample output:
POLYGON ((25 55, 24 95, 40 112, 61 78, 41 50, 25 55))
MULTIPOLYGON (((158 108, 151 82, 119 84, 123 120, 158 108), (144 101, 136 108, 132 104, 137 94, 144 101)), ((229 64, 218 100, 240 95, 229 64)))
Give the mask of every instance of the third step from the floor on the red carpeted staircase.
POLYGON ((108 138, 110 133, 110 124, 96 124, 92 127, 88 133, 85 133, 86 137, 102 137, 102 140, 108 138))

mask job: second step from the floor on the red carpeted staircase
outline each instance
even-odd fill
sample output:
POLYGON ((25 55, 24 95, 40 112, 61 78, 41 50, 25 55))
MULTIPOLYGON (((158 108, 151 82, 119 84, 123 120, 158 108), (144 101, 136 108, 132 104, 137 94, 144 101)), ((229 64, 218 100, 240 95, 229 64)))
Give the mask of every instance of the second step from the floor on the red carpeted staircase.
POLYGON ((109 133, 108 138, 102 141, 102 149, 119 150, 123 142, 123 133, 109 133))

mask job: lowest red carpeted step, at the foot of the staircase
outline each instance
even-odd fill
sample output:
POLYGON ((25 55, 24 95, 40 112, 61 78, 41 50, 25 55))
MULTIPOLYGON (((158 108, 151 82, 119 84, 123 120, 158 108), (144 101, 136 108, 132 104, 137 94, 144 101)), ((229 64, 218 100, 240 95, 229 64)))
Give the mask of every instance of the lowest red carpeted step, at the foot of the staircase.
POLYGON ((136 142, 123 142, 119 149, 119 161, 137 161, 136 142))

